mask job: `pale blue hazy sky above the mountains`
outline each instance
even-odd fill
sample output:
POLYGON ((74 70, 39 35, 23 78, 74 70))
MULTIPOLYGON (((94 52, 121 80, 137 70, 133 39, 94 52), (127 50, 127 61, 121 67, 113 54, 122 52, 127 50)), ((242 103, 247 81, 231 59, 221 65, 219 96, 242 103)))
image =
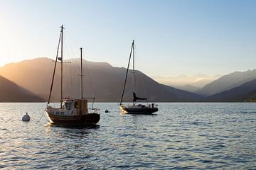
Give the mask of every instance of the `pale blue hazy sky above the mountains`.
POLYGON ((136 68, 149 76, 228 74, 256 69, 256 1, 0 0, 0 66, 55 58, 60 25, 65 57, 136 68))

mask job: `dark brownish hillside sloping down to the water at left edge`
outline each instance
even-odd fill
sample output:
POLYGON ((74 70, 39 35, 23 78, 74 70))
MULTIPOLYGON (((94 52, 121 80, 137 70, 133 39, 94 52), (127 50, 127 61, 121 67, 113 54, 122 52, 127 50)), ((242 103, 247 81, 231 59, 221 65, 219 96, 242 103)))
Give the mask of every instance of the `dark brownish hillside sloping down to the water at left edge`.
POLYGON ((43 101, 42 98, 31 94, 13 82, 0 76, 0 102, 43 101))

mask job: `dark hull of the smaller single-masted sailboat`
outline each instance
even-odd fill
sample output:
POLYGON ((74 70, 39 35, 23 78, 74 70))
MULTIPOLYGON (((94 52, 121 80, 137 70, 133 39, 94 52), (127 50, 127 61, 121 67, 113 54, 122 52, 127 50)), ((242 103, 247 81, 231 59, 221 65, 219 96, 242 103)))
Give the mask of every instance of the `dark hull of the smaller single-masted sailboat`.
POLYGON ((126 114, 141 114, 141 115, 151 115, 152 113, 155 113, 158 111, 158 108, 151 108, 148 106, 145 106, 144 108, 139 107, 129 107, 129 106, 119 106, 122 113, 126 114))

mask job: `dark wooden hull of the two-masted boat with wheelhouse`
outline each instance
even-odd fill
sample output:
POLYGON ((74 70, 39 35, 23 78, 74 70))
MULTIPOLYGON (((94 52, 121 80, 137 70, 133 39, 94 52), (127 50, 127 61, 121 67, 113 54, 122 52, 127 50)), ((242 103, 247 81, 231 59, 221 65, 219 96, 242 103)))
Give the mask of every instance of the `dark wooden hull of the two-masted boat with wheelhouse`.
POLYGON ((100 121, 100 114, 86 113, 83 115, 53 115, 46 111, 51 124, 54 125, 96 125, 100 121))

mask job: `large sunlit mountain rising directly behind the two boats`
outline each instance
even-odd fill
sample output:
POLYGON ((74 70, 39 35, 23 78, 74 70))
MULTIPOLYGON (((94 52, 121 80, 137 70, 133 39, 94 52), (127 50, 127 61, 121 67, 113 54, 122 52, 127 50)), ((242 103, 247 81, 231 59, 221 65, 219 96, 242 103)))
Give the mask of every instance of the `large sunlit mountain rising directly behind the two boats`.
MULTIPOLYGON (((125 68, 112 67, 105 62, 83 63, 84 96, 94 97, 96 101, 119 102, 124 85, 125 68)), ((6 64, 0 67, 0 74, 23 89, 33 94, 48 98, 50 83, 53 75, 54 62, 48 58, 37 58, 23 62, 6 64)), ((53 98, 60 97, 60 64, 57 65, 53 98)), ((80 59, 66 60, 63 64, 63 96, 80 98, 80 59), (71 62, 71 63, 67 63, 71 62)), ((136 71, 137 96, 147 96, 148 101, 199 101, 201 96, 159 84, 146 74, 136 71)), ((132 74, 128 75, 124 101, 132 100, 132 74)))

